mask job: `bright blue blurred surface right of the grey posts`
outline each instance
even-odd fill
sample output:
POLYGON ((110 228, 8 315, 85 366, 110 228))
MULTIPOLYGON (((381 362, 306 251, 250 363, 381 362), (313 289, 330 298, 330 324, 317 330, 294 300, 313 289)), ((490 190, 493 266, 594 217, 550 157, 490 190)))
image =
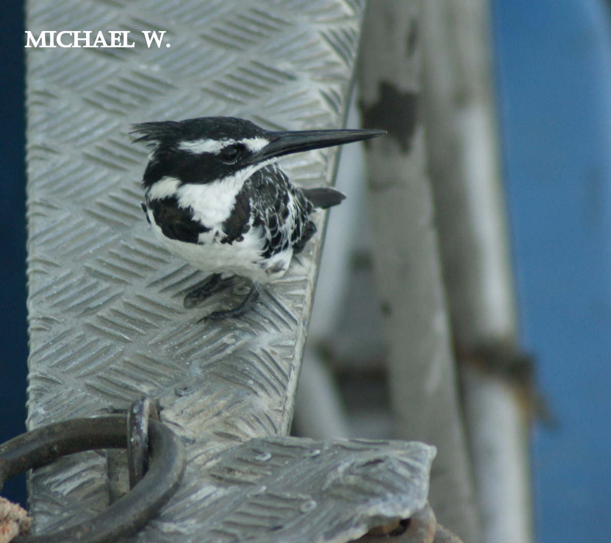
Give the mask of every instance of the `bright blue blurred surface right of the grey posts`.
POLYGON ((494 0, 537 541, 611 541, 611 37, 598 0, 494 0))

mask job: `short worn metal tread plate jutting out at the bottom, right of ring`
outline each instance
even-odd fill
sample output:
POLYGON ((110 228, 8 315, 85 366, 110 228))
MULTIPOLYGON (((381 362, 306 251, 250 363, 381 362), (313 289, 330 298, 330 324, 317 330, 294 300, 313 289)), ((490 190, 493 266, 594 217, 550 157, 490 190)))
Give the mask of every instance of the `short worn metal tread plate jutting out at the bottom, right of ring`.
POLYGON ((425 506, 433 456, 433 447, 403 441, 250 440, 188 470, 175 501, 137 539, 351 541, 425 506))

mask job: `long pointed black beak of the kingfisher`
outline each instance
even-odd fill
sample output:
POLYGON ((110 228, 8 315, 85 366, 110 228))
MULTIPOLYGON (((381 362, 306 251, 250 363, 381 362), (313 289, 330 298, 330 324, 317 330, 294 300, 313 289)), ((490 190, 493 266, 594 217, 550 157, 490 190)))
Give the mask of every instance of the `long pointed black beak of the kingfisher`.
POLYGON ((377 138, 386 134, 384 130, 302 130, 268 132, 273 141, 255 153, 249 162, 255 163, 268 158, 282 157, 291 153, 322 149, 344 143, 377 138))

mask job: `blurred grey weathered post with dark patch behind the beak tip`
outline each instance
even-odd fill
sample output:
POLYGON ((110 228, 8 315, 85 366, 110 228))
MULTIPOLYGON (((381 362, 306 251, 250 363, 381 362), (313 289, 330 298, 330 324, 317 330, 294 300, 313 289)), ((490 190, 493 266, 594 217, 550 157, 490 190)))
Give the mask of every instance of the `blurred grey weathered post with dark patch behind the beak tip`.
POLYGON ((365 16, 365 125, 389 131, 367 145, 374 268, 397 434, 437 446, 433 509, 464 541, 480 541, 420 116, 420 10, 418 1, 384 0, 365 16))

